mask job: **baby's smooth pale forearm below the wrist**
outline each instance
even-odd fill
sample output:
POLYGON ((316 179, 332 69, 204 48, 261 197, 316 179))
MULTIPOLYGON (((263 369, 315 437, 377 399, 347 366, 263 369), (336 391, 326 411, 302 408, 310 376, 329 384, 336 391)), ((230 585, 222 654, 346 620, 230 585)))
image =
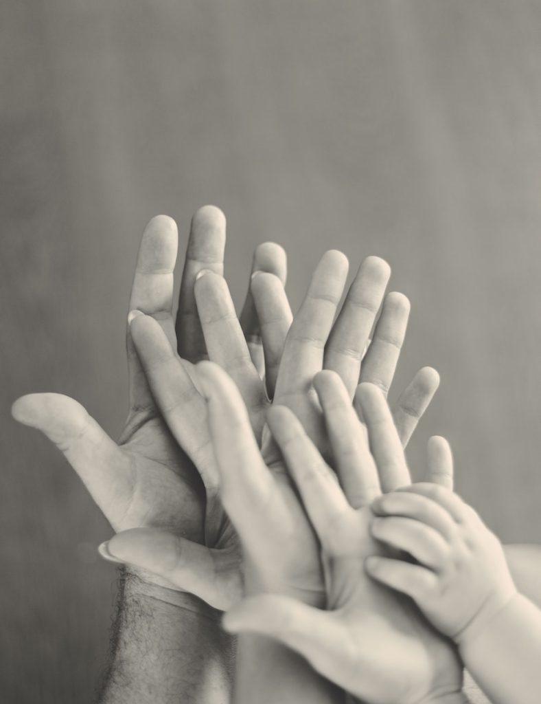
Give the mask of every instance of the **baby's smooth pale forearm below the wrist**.
POLYGON ((516 594, 459 646, 492 704, 536 704, 541 692, 541 611, 516 594))

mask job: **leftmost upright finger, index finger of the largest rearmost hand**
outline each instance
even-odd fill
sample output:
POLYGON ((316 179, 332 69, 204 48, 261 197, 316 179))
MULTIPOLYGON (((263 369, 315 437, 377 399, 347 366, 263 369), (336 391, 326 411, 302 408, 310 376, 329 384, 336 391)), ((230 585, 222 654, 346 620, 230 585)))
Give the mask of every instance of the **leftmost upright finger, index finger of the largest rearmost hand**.
MULTIPOLYGON (((167 215, 152 218, 141 238, 129 303, 130 310, 142 310, 158 320, 172 346, 176 344, 171 309, 177 249, 176 222, 167 215)), ((126 332, 126 348, 131 411, 153 408, 150 387, 133 346, 129 328, 126 332)))

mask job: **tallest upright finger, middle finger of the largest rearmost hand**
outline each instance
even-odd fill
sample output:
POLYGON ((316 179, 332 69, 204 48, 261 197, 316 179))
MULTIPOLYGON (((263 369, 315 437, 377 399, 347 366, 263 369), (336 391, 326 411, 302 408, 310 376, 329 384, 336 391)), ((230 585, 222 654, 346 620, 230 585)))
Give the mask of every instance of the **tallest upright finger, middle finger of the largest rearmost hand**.
POLYGON ((195 303, 195 279, 203 269, 223 275, 225 248, 226 216, 220 208, 203 206, 192 218, 176 314, 178 354, 190 362, 207 354, 195 303))

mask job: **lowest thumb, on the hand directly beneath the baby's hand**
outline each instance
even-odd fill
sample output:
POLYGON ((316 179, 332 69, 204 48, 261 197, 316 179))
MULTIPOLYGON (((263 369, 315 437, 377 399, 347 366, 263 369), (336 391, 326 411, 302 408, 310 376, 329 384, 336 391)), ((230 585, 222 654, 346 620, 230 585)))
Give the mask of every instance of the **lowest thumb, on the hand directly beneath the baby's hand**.
POLYGON ((233 633, 257 633, 280 641, 332 681, 337 681, 337 672, 343 669, 344 628, 332 611, 266 594, 236 604, 223 618, 223 627, 233 633))

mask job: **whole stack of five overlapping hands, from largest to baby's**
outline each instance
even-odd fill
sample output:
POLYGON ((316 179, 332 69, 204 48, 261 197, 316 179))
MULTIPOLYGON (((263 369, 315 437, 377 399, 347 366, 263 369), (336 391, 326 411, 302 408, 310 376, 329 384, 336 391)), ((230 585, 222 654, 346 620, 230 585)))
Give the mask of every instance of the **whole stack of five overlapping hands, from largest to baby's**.
POLYGON ((117 532, 100 552, 164 601, 193 594, 227 612, 238 701, 259 700, 240 671, 264 642, 336 685, 322 701, 462 702, 464 660, 493 701, 511 701, 476 670, 486 634, 524 608, 502 546, 453 494, 443 438, 429 441, 424 482, 405 460, 437 373, 423 368, 392 411, 386 402, 409 314, 405 296, 385 294, 389 266, 366 258, 339 309, 348 263, 328 251, 293 317, 285 253, 263 244, 239 320, 224 246, 221 211, 202 208, 175 324, 176 225, 146 228, 119 444, 71 398, 15 402, 117 532))

